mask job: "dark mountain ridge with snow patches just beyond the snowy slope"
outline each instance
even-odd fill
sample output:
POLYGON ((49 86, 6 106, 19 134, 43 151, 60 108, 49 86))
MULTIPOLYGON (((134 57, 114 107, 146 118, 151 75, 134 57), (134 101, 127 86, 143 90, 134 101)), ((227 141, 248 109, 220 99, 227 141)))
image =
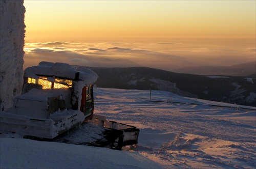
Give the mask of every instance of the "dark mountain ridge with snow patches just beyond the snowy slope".
POLYGON ((162 90, 184 97, 256 106, 256 79, 241 76, 205 76, 147 67, 95 68, 97 87, 162 90))

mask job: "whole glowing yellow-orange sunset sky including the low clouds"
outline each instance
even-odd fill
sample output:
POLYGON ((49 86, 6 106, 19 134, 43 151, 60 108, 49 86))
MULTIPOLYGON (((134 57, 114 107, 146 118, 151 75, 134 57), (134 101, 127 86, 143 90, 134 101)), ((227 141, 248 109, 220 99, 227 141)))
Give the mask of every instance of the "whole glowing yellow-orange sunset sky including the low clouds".
MULTIPOLYGON (((255 5, 255 1, 25 0, 25 67, 43 58, 54 62, 51 56, 61 58, 60 51, 62 62, 72 64, 71 60, 93 57, 89 65, 80 63, 95 67, 106 64, 101 57, 166 70, 188 65, 230 66, 252 62, 255 61, 255 5), (47 46, 49 42, 67 43, 47 46), (109 50, 111 47, 119 50, 109 50), (51 51, 49 55, 42 55, 46 50, 51 51)), ((108 66, 125 65, 117 62, 105 65, 108 66)))

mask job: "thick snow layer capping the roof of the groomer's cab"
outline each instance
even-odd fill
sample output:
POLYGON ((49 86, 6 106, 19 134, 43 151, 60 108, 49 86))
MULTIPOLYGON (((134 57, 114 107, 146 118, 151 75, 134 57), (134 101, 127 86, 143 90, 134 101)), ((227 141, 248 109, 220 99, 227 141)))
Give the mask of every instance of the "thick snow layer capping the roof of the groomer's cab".
POLYGON ((25 77, 38 78, 38 75, 57 76, 62 78, 75 79, 79 72, 79 80, 85 81, 87 85, 92 85, 99 77, 90 69, 77 67, 76 69, 66 63, 40 62, 37 66, 25 69, 25 77))

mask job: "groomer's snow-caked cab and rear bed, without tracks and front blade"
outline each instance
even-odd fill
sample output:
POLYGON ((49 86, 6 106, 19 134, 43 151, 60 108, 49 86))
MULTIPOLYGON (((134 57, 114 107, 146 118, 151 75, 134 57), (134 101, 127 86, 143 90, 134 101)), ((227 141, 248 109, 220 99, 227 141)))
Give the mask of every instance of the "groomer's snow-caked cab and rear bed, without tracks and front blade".
POLYGON ((25 69, 22 95, 0 112, 0 133, 53 139, 93 115, 98 75, 65 63, 40 62, 25 69))

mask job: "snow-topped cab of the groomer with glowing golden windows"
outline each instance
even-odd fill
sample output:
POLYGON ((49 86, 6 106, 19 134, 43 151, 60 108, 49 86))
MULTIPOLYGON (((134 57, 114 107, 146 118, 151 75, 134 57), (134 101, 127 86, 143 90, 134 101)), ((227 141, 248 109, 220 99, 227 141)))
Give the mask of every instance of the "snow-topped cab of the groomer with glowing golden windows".
POLYGON ((34 110, 31 110, 34 118, 49 119, 55 112, 67 109, 83 112, 84 119, 88 120, 93 116, 92 85, 97 78, 95 72, 86 68, 74 68, 65 63, 40 62, 38 66, 25 69, 21 96, 24 95, 24 100, 28 100, 28 96, 33 97, 30 103, 34 102, 34 107, 36 101, 47 102, 45 104, 48 106, 43 106, 45 110, 39 112, 41 115, 32 115, 34 110), (44 114, 43 111, 47 113, 44 114))

